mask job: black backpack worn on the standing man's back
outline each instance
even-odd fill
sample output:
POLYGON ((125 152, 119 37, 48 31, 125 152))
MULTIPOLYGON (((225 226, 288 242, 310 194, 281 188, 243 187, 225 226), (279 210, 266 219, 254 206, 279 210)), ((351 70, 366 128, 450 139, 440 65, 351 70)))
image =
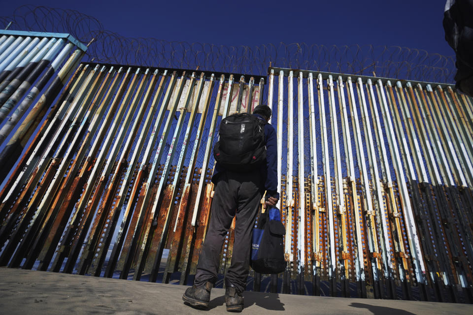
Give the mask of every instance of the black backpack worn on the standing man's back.
POLYGON ((231 171, 248 172, 266 161, 266 122, 250 114, 233 114, 222 120, 213 156, 231 171))

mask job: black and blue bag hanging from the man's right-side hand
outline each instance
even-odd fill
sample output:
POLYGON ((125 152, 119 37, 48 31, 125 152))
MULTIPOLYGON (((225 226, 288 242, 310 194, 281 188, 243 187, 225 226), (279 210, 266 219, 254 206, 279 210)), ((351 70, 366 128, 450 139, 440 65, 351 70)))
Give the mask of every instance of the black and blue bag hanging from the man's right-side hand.
POLYGON ((278 274, 286 269, 283 244, 285 233, 279 209, 272 207, 260 215, 251 238, 250 266, 254 271, 262 274, 278 274))

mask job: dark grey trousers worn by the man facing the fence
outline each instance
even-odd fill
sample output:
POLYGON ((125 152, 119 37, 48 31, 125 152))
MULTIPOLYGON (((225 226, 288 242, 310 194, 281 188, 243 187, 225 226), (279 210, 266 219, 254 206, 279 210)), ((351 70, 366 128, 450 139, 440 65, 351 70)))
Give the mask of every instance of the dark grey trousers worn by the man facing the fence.
POLYGON ((210 213, 207 236, 197 264, 194 284, 199 287, 207 281, 215 283, 220 262, 220 252, 227 231, 236 216, 235 242, 226 281, 239 292, 246 288, 251 250, 251 235, 258 214, 258 204, 264 192, 259 171, 218 175, 210 213))

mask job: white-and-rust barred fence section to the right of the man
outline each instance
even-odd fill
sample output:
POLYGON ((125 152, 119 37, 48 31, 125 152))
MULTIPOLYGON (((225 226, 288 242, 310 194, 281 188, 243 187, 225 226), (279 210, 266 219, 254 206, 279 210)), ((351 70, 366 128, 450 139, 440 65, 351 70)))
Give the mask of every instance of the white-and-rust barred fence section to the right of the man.
POLYGON ((375 298, 401 286, 410 299, 414 286, 423 300, 470 299, 471 98, 449 85, 281 68, 269 82, 300 292, 323 279, 332 295, 340 283, 349 296, 351 282, 357 296, 369 283, 375 298))

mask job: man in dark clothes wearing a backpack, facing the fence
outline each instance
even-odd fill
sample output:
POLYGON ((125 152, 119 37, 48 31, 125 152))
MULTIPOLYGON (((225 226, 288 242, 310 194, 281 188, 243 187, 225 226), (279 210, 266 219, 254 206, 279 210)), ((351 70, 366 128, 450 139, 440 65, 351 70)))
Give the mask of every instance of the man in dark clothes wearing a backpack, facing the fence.
POLYGON ((258 205, 265 190, 265 208, 276 205, 279 200, 276 131, 268 124, 270 117, 270 107, 258 105, 253 115, 235 114, 220 123, 220 138, 214 147, 215 193, 210 223, 194 285, 182 296, 192 307, 208 307, 210 290, 217 280, 222 245, 236 217, 232 262, 225 277, 225 302, 227 311, 243 309, 241 293, 246 288, 251 233, 258 205))

